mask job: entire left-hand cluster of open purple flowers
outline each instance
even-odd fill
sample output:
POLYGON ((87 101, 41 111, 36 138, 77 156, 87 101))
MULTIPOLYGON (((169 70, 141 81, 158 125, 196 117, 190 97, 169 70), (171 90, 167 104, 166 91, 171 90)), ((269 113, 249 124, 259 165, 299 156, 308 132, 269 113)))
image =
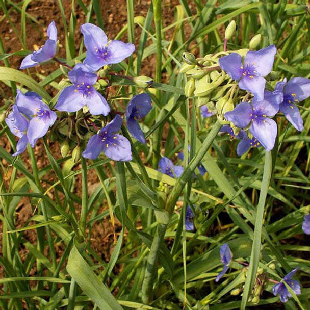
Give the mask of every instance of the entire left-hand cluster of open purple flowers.
MULTIPOLYGON (((93 160, 101 152, 104 152, 107 157, 113 160, 130 161, 132 160, 131 143, 118 134, 121 130, 122 118, 118 114, 119 112, 111 113, 111 107, 107 101, 109 92, 107 90, 106 96, 102 95, 97 83, 100 79, 105 78, 100 77, 96 71, 104 66, 123 61, 134 53, 135 45, 119 40, 108 40, 105 32, 91 23, 83 24, 81 32, 87 49, 83 63, 77 63, 72 68, 55 57, 58 40, 57 28, 53 21, 48 26, 48 39, 45 44, 26 56, 20 69, 31 68, 48 61, 56 61, 68 67, 70 69, 68 79, 71 85, 66 83, 66 87, 61 90, 54 108, 57 111, 68 113, 77 112, 81 109, 84 113, 89 111, 90 115, 86 115, 84 119, 92 124, 97 133, 90 137, 82 156, 93 160), (90 120, 91 117, 97 116, 96 120, 101 119, 101 122, 105 122, 106 119, 102 118, 103 116, 109 116, 111 119, 113 115, 116 116, 101 130, 98 130, 99 128, 90 120)), ((109 83, 107 84, 109 85, 109 83)), ((147 93, 141 93, 133 96, 128 102, 125 113, 120 113, 126 116, 128 131, 141 143, 145 143, 145 137, 139 126, 139 120, 151 108, 150 96, 147 93)), ((16 146, 17 151, 13 156, 22 153, 28 143, 34 147, 36 141, 47 133, 56 119, 61 120, 61 116, 61 113, 56 114, 55 111, 52 111, 38 94, 34 92, 23 94, 18 91, 12 112, 6 118, 6 123, 11 132, 20 138, 16 146)), ((80 142, 77 141, 77 143, 80 142)))

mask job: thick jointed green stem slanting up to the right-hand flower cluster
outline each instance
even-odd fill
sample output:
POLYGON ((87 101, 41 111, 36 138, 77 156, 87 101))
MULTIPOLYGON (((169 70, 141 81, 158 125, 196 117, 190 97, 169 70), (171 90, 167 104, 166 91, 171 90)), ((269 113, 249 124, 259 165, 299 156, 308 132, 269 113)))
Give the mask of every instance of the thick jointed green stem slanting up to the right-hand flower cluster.
MULTIPOLYGON (((177 180, 173 190, 169 194, 166 211, 169 214, 173 213, 175 203, 180 196, 186 183, 191 179, 195 168, 199 165, 200 161, 204 157, 205 153, 208 151, 212 145, 214 139, 216 138, 218 132, 220 131, 222 125, 217 121, 209 133, 208 137, 203 141, 200 149, 196 153, 196 156, 190 161, 183 174, 177 180)), ((147 259, 147 265, 145 269, 144 279, 142 283, 142 301, 145 304, 149 304, 153 299, 153 277, 157 266, 158 251, 161 243, 164 240, 165 232, 168 224, 159 223, 156 228, 156 233, 150 248, 150 253, 147 259)))

